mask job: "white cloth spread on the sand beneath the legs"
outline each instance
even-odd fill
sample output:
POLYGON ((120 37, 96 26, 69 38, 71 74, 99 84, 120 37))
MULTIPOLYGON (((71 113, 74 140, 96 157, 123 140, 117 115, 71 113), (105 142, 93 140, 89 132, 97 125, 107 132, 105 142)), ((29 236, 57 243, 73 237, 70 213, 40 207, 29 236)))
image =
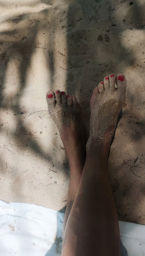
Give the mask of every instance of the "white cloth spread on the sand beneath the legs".
MULTIPOLYGON (((64 213, 0 200, 0 256, 61 255, 64 213)), ((143 256, 145 225, 119 221, 122 256, 143 256)))

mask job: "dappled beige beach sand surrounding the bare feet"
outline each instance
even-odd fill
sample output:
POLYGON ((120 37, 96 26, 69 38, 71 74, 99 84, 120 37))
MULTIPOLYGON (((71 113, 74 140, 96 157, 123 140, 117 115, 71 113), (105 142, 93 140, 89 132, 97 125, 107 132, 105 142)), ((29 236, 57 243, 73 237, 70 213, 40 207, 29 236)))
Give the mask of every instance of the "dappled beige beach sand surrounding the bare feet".
POLYGON ((145 6, 144 0, 129 3, 1 3, 0 199, 64 211, 68 164, 46 92, 60 89, 77 97, 87 138, 93 89, 104 76, 124 73, 127 106, 109 173, 119 220, 145 224, 145 6))

